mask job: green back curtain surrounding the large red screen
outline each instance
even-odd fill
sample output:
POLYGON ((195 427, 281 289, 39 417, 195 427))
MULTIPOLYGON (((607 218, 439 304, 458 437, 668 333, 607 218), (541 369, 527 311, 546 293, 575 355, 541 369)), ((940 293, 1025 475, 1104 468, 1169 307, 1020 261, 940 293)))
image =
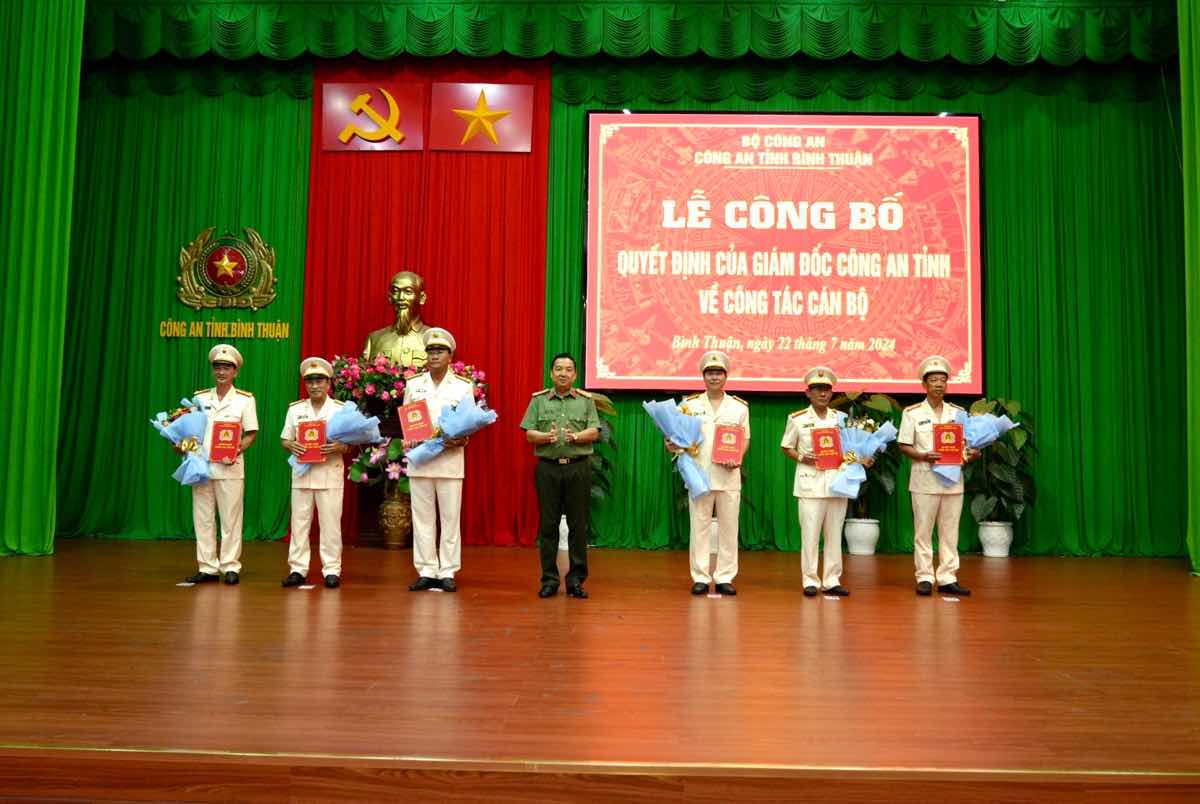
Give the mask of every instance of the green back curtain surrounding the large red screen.
MULTIPOLYGON (((1152 418, 1162 406, 1146 398, 1146 389, 1182 379, 1187 355, 1174 71, 1152 77, 1158 89, 1151 100, 1139 100, 1148 91, 1117 94, 1148 78, 1130 80, 1124 66, 1076 77, 984 67, 971 71, 968 89, 952 100, 928 92, 899 92, 898 100, 887 94, 898 94, 887 89, 892 83, 872 88, 874 68, 858 79, 851 66, 835 68, 838 82, 829 79, 816 94, 797 91, 809 85, 804 70, 780 66, 770 74, 769 65, 758 80, 731 82, 730 92, 709 83, 724 80, 722 71, 703 62, 559 71, 551 116, 547 356, 582 353, 588 110, 978 113, 985 388, 1037 416, 1040 449, 1040 497, 1016 527, 1014 552, 1183 554, 1183 451, 1145 462, 1127 457, 1130 444, 1153 443, 1152 418), (684 89, 652 97, 644 94, 650 84, 684 89), (696 85, 702 97, 688 91, 696 85), (1102 88, 1110 88, 1106 95, 1102 88), (665 95, 672 100, 660 100, 665 95)), ((826 78, 817 71, 814 80, 823 85, 826 78)), ((614 493, 595 506, 594 524, 602 545, 677 547, 688 529, 680 486, 640 409, 643 398, 617 395, 614 493)), ((792 468, 778 445, 787 414, 803 404, 798 396, 750 398, 744 547, 798 547, 792 468)), ((900 493, 874 500, 881 551, 912 547, 906 472, 900 493)), ((966 514, 960 545, 978 548, 966 514)))

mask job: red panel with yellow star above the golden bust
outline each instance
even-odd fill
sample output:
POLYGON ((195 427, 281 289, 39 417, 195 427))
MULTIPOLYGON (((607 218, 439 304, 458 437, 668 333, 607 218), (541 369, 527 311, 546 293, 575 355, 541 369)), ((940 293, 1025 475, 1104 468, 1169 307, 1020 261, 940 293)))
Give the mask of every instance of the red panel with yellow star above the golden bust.
POLYGON ((530 84, 433 84, 430 148, 529 152, 530 84))

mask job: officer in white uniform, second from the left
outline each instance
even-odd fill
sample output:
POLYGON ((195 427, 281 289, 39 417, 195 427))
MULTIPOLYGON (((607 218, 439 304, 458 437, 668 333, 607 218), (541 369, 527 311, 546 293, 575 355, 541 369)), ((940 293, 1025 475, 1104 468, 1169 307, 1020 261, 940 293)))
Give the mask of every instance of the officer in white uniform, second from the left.
MULTIPOLYGON (((334 367, 324 358, 306 358, 300 362, 307 400, 288 406, 280 433, 283 449, 295 456, 304 455, 304 446, 296 440, 299 425, 304 421, 329 421, 342 408, 342 402, 329 396, 334 367)), ((292 572, 283 578, 284 587, 298 587, 308 575, 308 533, 312 530, 313 508, 320 522, 320 574, 325 587, 336 589, 342 583, 342 496, 346 470, 342 456, 349 446, 341 442, 329 442, 320 451, 325 460, 310 463, 301 476, 292 475, 292 544, 288 547, 288 566, 292 572)))

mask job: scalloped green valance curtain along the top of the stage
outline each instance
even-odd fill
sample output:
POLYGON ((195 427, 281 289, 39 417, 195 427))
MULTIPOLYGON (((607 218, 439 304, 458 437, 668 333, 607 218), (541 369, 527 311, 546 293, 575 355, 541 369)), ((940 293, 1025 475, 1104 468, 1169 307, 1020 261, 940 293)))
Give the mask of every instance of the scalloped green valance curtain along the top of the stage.
POLYGON ((325 59, 853 54, 1068 65, 1162 61, 1174 55, 1177 38, 1171 0, 92 0, 85 47, 89 59, 145 59, 161 50, 182 59, 280 60, 306 52, 325 59))

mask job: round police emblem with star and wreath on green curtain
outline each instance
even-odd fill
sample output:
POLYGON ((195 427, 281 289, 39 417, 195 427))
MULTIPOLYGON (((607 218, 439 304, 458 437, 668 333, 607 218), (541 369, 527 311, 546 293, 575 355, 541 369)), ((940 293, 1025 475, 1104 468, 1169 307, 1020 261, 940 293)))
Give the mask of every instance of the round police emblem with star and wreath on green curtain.
POLYGON ((275 301, 275 250, 246 227, 246 240, 209 227, 179 250, 179 300, 202 307, 250 307, 275 301))

